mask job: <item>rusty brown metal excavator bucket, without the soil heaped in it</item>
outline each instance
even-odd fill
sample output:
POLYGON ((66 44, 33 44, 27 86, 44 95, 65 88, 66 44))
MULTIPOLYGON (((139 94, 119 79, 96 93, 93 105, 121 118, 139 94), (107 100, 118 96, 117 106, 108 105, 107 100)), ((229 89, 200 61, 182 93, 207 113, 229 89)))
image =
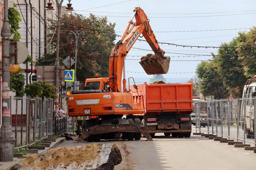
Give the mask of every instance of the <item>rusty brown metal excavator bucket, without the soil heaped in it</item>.
POLYGON ((166 74, 169 71, 170 57, 167 57, 161 61, 140 61, 139 63, 150 74, 166 74))

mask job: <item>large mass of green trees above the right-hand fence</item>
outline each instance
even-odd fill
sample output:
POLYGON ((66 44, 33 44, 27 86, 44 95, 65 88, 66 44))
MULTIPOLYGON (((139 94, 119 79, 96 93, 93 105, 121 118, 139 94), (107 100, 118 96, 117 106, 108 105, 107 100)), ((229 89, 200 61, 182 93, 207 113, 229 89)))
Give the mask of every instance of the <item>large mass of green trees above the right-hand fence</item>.
POLYGON ((212 54, 211 61, 203 61, 197 66, 197 76, 200 78, 198 90, 205 97, 217 94, 217 99, 228 94, 235 98, 242 97, 245 82, 256 75, 256 49, 252 47, 255 45, 256 27, 252 27, 248 33, 239 32, 232 41, 222 43, 218 54, 212 54))

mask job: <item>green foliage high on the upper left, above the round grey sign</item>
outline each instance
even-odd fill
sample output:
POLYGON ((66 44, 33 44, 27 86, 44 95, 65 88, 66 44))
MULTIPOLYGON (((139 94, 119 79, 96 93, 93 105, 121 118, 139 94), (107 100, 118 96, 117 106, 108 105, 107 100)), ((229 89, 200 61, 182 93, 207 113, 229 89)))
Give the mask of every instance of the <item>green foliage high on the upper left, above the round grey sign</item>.
MULTIPOLYGON (((14 4, 14 7, 17 7, 17 5, 14 4)), ((21 39, 20 32, 19 32, 19 29, 20 29, 19 22, 22 21, 19 11, 15 8, 9 8, 8 19, 9 19, 11 34, 15 34, 14 38, 11 41, 19 41, 21 39)))

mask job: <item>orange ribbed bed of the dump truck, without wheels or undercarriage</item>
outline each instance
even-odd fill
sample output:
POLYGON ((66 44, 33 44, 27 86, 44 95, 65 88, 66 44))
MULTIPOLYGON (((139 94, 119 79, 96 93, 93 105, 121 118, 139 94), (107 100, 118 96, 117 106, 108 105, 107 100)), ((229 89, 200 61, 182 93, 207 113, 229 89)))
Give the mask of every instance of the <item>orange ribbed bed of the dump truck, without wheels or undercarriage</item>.
POLYGON ((134 100, 148 112, 192 112, 192 83, 140 84, 136 90, 130 86, 134 100))

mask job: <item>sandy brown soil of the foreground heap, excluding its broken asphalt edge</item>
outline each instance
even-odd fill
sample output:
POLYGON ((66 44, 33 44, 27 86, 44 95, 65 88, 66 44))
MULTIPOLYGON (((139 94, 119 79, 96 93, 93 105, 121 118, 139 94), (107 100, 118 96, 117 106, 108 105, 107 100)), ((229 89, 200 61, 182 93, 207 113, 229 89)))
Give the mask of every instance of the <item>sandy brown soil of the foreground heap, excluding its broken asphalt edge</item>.
POLYGON ((100 155, 101 145, 82 145, 81 147, 63 147, 48 150, 42 155, 28 156, 22 162, 24 166, 33 169, 67 168, 71 164, 83 166, 85 161, 90 162, 100 155))

